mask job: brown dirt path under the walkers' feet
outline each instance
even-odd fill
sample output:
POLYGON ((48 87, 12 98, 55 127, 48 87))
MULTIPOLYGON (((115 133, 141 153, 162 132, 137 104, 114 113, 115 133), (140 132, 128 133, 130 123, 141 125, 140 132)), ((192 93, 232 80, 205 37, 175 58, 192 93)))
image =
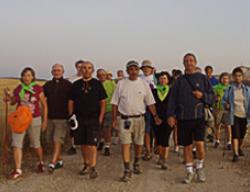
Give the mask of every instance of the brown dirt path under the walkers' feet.
POLYGON ((170 153, 170 169, 160 170, 156 159, 142 162, 143 174, 133 176, 129 183, 122 183, 122 162, 118 146, 112 147, 112 156, 99 155, 97 170, 99 177, 89 180, 79 176, 80 155, 64 156, 65 167, 53 175, 36 174, 31 167, 25 167, 25 177, 19 181, 0 181, 0 192, 250 192, 250 149, 246 157, 237 164, 232 164, 231 154, 226 153, 222 163, 222 150, 208 147, 206 160, 206 183, 185 185, 181 180, 185 174, 181 158, 170 153))

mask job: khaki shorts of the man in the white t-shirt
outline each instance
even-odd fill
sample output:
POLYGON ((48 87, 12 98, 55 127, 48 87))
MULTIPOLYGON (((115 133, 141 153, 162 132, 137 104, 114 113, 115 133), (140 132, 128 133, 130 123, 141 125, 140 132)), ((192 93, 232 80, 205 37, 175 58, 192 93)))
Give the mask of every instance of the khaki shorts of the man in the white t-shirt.
POLYGON ((133 142, 136 145, 143 145, 145 135, 144 116, 139 118, 129 118, 129 121, 131 121, 129 129, 124 128, 124 121, 124 119, 119 120, 121 144, 131 144, 133 142))

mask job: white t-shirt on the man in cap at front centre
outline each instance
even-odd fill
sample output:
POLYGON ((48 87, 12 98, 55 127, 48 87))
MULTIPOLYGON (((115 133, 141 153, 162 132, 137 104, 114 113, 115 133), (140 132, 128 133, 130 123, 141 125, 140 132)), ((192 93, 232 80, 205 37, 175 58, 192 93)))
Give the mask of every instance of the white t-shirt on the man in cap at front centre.
POLYGON ((118 106, 123 115, 141 115, 146 112, 146 106, 155 103, 148 84, 141 78, 135 81, 120 80, 113 94, 111 104, 118 106))

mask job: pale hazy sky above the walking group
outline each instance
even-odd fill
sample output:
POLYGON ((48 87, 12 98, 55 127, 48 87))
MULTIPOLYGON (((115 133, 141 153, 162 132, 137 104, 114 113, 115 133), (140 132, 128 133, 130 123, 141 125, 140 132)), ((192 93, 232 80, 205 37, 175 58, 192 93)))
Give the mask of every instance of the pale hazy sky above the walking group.
POLYGON ((195 53, 217 73, 250 66, 249 0, 0 0, 0 77, 50 77, 79 59, 115 72, 131 59, 182 69, 195 53))

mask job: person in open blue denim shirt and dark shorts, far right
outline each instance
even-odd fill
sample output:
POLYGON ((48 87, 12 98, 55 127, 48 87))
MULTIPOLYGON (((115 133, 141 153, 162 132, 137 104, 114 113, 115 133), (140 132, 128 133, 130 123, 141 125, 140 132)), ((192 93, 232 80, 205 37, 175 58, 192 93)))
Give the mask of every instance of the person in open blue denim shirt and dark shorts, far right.
POLYGON ((233 84, 227 89, 222 103, 229 110, 233 139, 233 162, 244 156, 243 140, 247 125, 250 124, 250 88, 243 84, 243 71, 237 67, 233 70, 233 84))

